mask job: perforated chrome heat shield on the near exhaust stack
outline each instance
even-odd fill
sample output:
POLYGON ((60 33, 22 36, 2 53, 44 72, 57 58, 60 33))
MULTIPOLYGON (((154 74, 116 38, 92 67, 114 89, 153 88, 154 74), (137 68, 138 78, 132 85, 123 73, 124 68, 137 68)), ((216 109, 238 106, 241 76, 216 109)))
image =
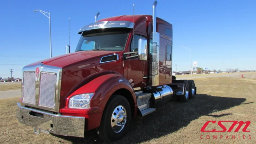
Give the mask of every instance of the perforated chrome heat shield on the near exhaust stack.
POLYGON ((158 74, 158 59, 157 59, 157 42, 150 43, 150 54, 151 54, 151 67, 150 74, 155 76, 158 74))

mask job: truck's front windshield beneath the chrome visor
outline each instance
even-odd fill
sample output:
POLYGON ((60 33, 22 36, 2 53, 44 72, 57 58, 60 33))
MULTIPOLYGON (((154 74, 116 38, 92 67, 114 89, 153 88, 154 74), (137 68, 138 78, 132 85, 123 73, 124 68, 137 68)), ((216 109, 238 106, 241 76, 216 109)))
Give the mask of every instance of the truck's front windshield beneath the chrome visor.
POLYGON ((122 51, 128 37, 128 32, 97 32, 83 34, 78 42, 76 51, 108 50, 122 51))

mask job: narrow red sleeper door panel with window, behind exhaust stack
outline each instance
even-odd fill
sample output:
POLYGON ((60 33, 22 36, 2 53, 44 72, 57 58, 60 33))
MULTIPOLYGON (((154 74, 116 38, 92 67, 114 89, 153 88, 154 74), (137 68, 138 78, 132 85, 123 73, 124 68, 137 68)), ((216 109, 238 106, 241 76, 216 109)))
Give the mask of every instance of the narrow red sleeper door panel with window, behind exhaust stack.
POLYGON ((171 79, 172 72, 172 44, 166 42, 166 55, 165 55, 165 79, 171 79))

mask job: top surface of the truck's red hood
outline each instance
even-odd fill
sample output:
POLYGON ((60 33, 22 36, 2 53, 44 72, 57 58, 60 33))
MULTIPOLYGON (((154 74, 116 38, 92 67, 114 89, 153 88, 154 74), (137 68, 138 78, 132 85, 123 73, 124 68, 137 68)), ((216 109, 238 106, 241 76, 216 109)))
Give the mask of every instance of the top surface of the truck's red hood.
POLYGON ((79 51, 79 52, 73 52, 73 53, 59 55, 51 58, 46 58, 46 59, 34 62, 32 64, 29 64, 28 66, 43 63, 45 65, 50 65, 50 66, 65 67, 69 64, 72 64, 81 60, 86 60, 88 58, 97 57, 101 55, 104 56, 108 54, 113 54, 115 52, 119 52, 119 51, 104 51, 104 50, 103 51, 95 51, 95 50, 79 51))

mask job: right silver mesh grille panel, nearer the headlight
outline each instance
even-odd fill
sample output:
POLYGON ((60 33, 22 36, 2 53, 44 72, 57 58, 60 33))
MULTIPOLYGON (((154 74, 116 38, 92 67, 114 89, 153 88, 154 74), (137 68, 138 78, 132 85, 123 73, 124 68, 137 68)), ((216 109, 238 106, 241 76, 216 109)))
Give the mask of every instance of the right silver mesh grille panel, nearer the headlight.
POLYGON ((56 79, 56 73, 41 73, 39 90, 40 106, 55 108, 56 79))

